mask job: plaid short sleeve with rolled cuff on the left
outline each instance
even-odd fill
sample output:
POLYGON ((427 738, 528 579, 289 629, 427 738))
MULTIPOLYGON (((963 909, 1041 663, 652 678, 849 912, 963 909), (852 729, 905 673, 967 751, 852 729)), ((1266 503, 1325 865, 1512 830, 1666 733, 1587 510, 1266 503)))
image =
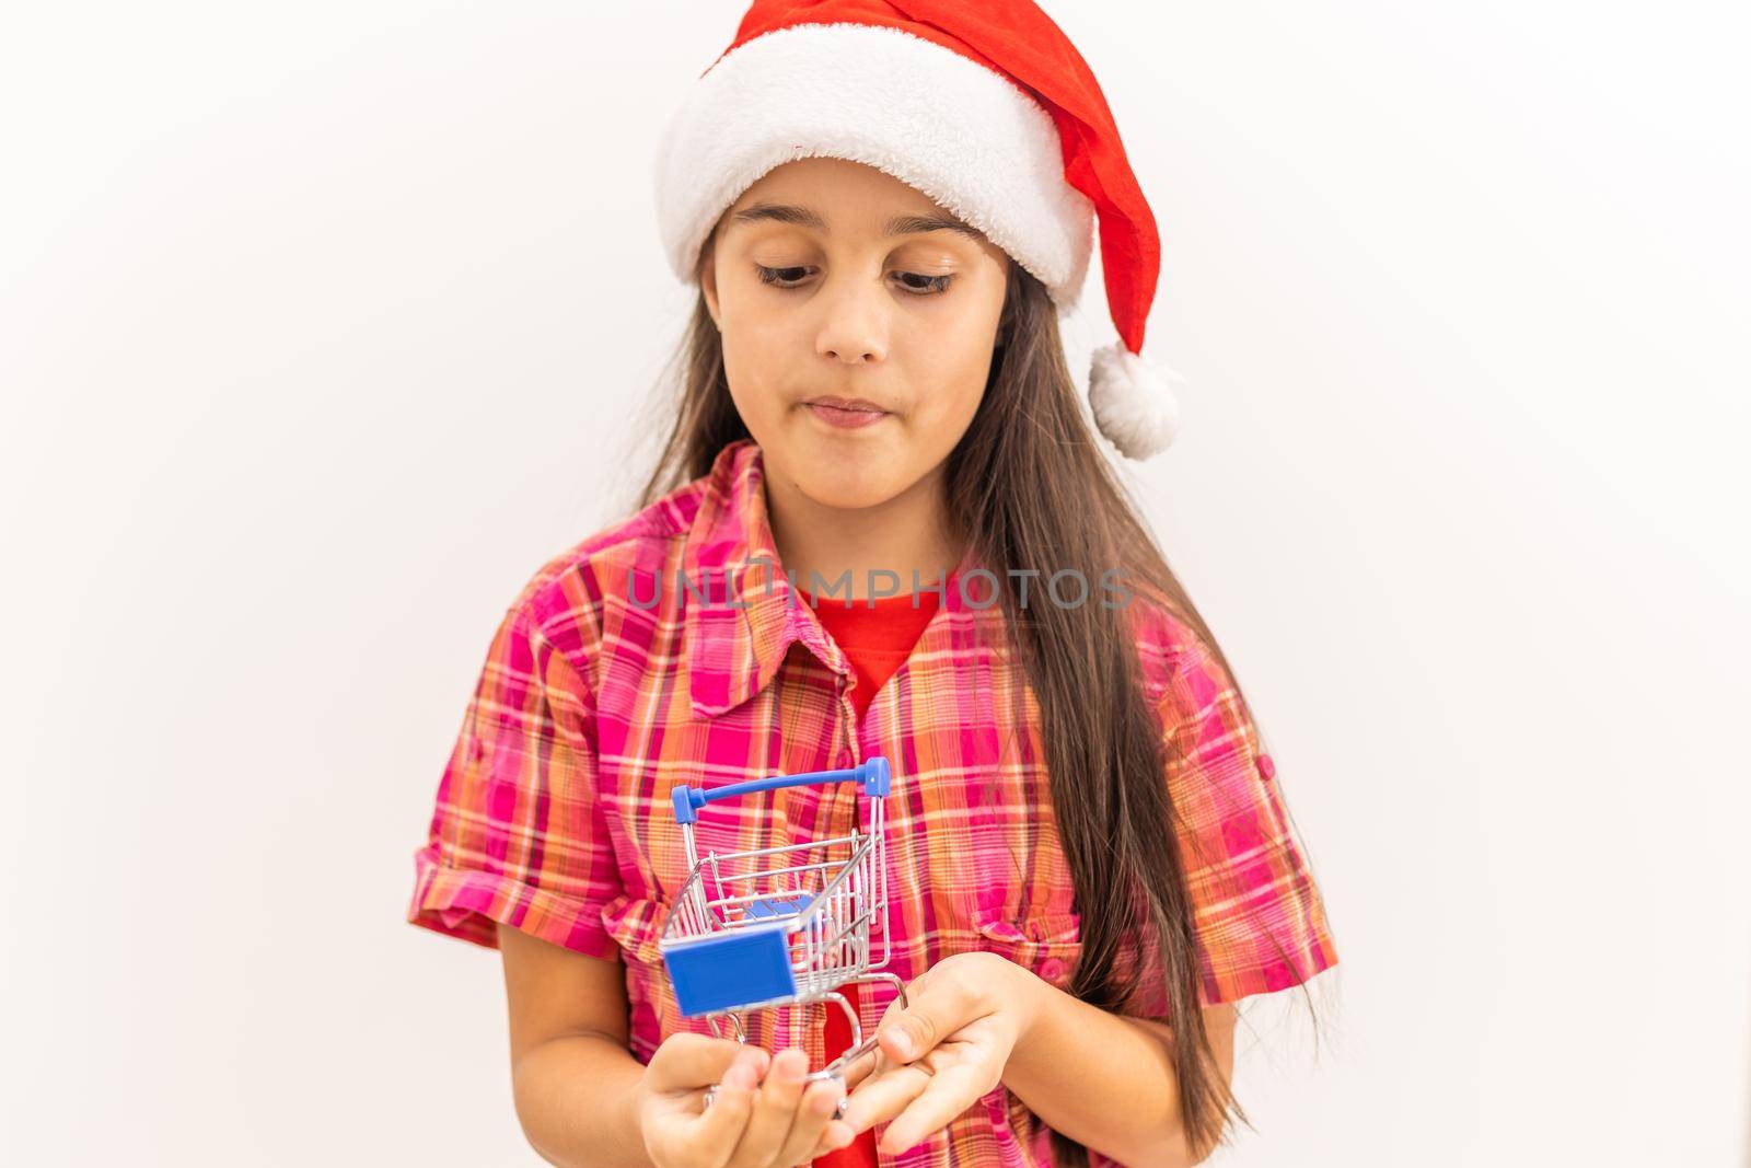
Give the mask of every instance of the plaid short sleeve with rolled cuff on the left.
POLYGON ((620 891, 594 697, 517 606, 492 637, 438 783, 406 919, 489 949, 503 923, 611 958, 602 907, 620 891))

